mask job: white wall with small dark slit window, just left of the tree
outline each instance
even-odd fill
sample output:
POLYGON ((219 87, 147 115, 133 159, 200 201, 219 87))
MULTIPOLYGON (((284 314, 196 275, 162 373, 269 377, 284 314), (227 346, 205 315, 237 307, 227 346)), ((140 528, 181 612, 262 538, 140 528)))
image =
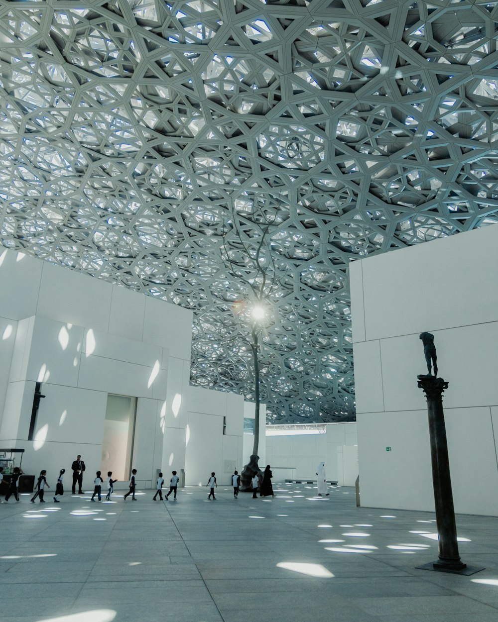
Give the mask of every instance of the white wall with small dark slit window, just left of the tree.
POLYGON ((218 485, 231 484, 233 471, 240 473, 243 468, 244 399, 199 387, 190 387, 189 391, 185 483, 204 486, 214 471, 218 485))

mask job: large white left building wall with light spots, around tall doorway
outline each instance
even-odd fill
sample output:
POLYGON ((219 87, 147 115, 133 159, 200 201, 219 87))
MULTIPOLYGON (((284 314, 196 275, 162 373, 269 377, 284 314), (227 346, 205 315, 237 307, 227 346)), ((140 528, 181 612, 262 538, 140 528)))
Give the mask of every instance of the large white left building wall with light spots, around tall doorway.
POLYGON ((12 251, 0 253, 0 291, 0 445, 26 450, 26 473, 68 470, 80 453, 90 486, 108 393, 138 397, 139 485, 164 460, 184 465, 192 312, 12 251), (46 397, 30 442, 37 380, 46 397))

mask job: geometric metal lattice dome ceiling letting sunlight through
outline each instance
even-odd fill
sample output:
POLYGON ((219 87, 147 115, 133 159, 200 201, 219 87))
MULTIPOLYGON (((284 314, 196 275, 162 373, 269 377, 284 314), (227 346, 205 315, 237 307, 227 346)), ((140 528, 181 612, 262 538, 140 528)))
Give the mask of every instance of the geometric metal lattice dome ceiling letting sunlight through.
POLYGON ((498 221, 497 4, 2 0, 2 244, 193 309, 250 398, 222 238, 273 210, 268 420, 351 419, 349 262, 498 221))

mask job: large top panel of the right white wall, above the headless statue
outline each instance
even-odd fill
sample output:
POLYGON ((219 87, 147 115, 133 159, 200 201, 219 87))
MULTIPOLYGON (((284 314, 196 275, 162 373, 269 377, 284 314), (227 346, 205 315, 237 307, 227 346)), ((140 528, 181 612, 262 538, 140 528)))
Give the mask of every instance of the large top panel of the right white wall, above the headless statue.
POLYGON ((491 225, 360 260, 365 338, 496 321, 497 238, 491 225))

